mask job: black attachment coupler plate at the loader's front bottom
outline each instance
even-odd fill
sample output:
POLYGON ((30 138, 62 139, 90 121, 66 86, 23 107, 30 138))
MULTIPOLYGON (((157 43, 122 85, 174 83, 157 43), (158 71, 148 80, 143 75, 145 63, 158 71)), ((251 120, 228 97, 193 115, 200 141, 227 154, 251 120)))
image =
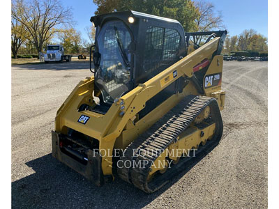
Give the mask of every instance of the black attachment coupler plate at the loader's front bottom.
POLYGON ((60 162, 63 162, 63 164, 66 164, 71 169, 82 174, 85 178, 91 180, 95 185, 103 185, 105 178, 101 167, 102 157, 98 153, 93 153, 93 150, 89 150, 87 156, 88 160, 86 164, 82 164, 61 151, 59 147, 59 139, 59 134, 52 131, 52 156, 60 162))

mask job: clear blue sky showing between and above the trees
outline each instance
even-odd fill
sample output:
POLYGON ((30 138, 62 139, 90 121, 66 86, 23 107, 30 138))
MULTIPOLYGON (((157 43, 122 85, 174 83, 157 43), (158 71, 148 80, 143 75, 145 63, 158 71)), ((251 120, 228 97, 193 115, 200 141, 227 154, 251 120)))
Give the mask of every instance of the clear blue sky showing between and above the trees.
MULTIPOLYGON (((239 35, 245 29, 255 29, 267 37, 267 0, 209 0, 221 11, 229 36, 239 35)), ((62 0, 64 6, 73 8, 75 28, 88 40, 84 28, 91 26, 90 17, 97 6, 92 0, 62 0)))

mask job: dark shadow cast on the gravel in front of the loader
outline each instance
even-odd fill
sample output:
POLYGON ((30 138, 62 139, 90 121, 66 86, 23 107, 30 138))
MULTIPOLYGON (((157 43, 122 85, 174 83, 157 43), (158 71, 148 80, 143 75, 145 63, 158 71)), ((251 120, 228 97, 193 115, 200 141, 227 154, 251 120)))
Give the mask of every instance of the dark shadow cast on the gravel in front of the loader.
POLYGON ((26 163, 35 173, 12 183, 12 208, 143 208, 202 158, 196 157, 157 192, 146 194, 119 178, 98 187, 58 162, 52 154, 45 155, 26 163))

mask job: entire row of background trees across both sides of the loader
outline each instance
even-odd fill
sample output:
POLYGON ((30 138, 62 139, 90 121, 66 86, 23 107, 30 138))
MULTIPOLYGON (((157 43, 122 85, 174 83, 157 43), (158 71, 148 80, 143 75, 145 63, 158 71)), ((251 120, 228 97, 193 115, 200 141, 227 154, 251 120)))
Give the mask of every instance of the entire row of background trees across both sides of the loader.
MULTIPOLYGON (((96 15, 123 10, 136 10, 181 22, 185 31, 225 29, 222 13, 206 0, 93 0, 98 6, 96 15)), ((66 53, 78 54, 94 42, 95 28, 87 26, 82 38, 75 29, 72 8, 61 0, 12 0, 11 48, 17 54, 40 54, 47 44, 60 43, 66 53)), ((199 40, 202 41, 202 40, 199 40)), ((225 50, 267 50, 266 38, 253 30, 239 36, 227 37, 225 50)))

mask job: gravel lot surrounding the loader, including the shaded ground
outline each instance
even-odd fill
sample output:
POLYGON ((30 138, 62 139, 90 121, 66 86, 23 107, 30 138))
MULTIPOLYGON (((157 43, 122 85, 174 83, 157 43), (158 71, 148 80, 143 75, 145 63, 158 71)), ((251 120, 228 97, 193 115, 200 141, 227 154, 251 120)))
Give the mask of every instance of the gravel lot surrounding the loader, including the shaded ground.
POLYGON ((224 134, 153 194, 116 179, 96 187, 51 155, 56 110, 89 63, 12 67, 13 208, 267 208, 267 62, 224 63, 224 134))

